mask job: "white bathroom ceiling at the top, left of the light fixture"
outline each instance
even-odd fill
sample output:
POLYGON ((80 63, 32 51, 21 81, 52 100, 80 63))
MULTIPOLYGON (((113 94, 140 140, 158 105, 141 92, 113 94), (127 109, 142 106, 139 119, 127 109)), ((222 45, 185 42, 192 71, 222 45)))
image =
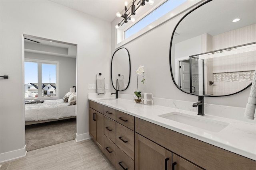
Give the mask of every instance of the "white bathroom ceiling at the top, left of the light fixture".
POLYGON ((78 10, 90 16, 111 22, 116 18, 116 12, 124 10, 124 3, 132 0, 50 0, 68 8, 78 10))

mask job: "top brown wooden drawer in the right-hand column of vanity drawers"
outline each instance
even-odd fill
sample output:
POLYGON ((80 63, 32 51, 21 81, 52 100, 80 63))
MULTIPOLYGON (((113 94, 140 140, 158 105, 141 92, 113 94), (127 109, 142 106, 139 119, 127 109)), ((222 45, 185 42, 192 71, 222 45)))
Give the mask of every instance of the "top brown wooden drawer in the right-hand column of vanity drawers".
POLYGON ((116 122, 134 131, 134 116, 116 110, 116 122))

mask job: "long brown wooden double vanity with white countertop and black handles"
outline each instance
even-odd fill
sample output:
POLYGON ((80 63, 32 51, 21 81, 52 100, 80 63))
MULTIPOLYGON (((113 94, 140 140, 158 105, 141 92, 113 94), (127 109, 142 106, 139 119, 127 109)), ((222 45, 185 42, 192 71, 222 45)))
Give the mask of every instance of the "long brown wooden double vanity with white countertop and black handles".
POLYGON ((254 123, 115 98, 89 96, 89 107, 90 135, 118 170, 256 167, 254 123))

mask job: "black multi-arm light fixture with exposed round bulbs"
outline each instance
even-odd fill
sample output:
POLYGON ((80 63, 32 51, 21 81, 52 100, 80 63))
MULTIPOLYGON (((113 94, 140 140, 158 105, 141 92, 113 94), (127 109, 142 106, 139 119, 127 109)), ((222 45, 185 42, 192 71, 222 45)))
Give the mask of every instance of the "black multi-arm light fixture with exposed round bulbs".
MULTIPOLYGON (((137 3, 137 5, 139 5, 137 8, 136 6, 134 5, 134 3, 136 2, 137 0, 132 0, 132 5, 127 8, 127 4, 125 4, 124 6, 124 14, 121 14, 119 12, 116 13, 116 16, 117 17, 122 17, 124 18, 120 23, 118 23, 116 25, 116 29, 118 29, 120 27, 120 25, 123 25, 124 23, 127 23, 128 20, 131 20, 132 22, 135 21, 135 19, 131 16, 134 16, 136 13, 136 10, 138 10, 138 8, 140 6, 144 6, 146 4, 146 2, 148 2, 148 4, 152 5, 154 3, 153 0, 138 0, 139 2, 137 3), (130 10, 131 9, 131 10, 130 10), (130 12, 128 13, 128 10, 130 10, 130 12)), ((127 3, 127 2, 126 2, 127 3)))

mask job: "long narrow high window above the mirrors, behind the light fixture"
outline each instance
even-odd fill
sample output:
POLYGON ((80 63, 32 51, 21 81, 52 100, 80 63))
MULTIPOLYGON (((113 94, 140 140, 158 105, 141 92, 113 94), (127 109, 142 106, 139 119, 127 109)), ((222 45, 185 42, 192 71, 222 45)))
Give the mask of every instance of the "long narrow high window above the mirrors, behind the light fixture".
MULTIPOLYGON (((164 3, 163 1, 154 1, 153 5, 146 3, 145 6, 140 7, 136 11, 136 15, 134 16, 136 22, 132 23, 128 21, 128 23, 116 29, 115 48, 117 49, 125 45, 162 23, 171 20, 178 14, 194 8, 199 3, 199 1, 194 0, 166 0, 164 3)), ((112 26, 120 22, 120 18, 115 19, 114 22, 112 26)))

